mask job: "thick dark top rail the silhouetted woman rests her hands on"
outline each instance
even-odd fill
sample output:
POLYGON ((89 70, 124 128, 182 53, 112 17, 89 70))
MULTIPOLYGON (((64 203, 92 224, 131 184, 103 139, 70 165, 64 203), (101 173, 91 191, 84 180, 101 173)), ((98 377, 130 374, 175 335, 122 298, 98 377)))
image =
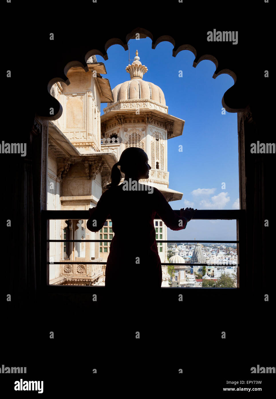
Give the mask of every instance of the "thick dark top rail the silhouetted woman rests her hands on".
MULTIPOLYGON (((180 209, 174 209, 174 212, 179 215, 180 209)), ((89 219, 89 211, 41 211, 42 216, 45 219, 89 219)), ((203 210, 198 209, 193 216, 193 220, 196 219, 206 219, 206 220, 233 220, 239 219, 245 214, 244 209, 216 209, 216 210, 203 210)), ((107 219, 111 219, 108 215, 107 219)), ((154 219, 161 219, 157 214, 155 214, 154 219)))

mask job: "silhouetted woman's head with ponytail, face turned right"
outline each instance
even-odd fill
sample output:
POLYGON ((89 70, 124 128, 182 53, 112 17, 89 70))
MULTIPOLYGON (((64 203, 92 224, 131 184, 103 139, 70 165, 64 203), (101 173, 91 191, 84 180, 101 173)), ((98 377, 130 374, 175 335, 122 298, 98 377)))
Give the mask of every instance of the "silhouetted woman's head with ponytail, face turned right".
POLYGON ((113 165, 111 170, 111 184, 107 188, 118 186, 121 182, 121 172, 118 168, 120 165, 121 172, 124 173, 126 178, 132 180, 148 179, 149 170, 151 169, 148 164, 148 156, 142 148, 130 147, 126 148, 119 159, 119 162, 113 165))

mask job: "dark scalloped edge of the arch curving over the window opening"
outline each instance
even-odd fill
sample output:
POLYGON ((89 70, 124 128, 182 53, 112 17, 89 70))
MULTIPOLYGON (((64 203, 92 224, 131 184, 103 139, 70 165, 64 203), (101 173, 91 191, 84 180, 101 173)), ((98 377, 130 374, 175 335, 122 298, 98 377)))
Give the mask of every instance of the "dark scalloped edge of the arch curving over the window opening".
MULTIPOLYGON (((195 56, 195 59, 193 61, 193 65, 192 65, 194 68, 203 60, 212 61, 216 66, 216 71, 214 72, 214 75, 212 76, 214 79, 216 79, 216 77, 218 77, 219 75, 227 74, 227 75, 230 75, 234 80, 234 85, 231 86, 224 93, 224 96, 222 97, 223 107, 226 109, 227 112, 230 112, 230 113, 243 112, 245 110, 248 103, 245 103, 241 108, 238 108, 238 109, 228 107, 226 104, 227 99, 229 99, 230 96, 233 95, 232 93, 234 93, 234 94, 238 93, 238 89, 241 87, 240 85, 237 85, 237 75, 235 74, 234 71, 232 71, 231 69, 225 68, 225 67, 222 67, 220 69, 219 61, 214 55, 198 54, 198 52, 196 51, 196 48, 194 46, 192 46, 191 44, 181 44, 176 47, 176 44, 175 44, 176 40, 173 37, 168 36, 168 35, 161 35, 161 36, 154 38, 154 35, 150 31, 148 31, 144 28, 138 27, 138 28, 133 29, 130 33, 126 34, 125 38, 111 38, 111 39, 107 40, 105 43, 104 49, 102 49, 102 51, 99 49, 93 49, 93 50, 87 51, 87 53, 84 57, 85 61, 87 62, 87 59, 89 59, 89 57, 91 57, 92 55, 100 55, 106 61, 108 59, 107 50, 109 49, 109 47, 111 47, 114 44, 121 45, 123 47, 123 49, 126 51, 128 49, 128 44, 127 44, 128 41, 130 39, 135 39, 136 34, 139 34, 140 38, 146 38, 146 37, 150 38, 152 40, 152 49, 155 49, 156 46, 159 43, 161 43, 162 41, 169 41, 169 43, 173 44, 173 46, 174 46, 173 53, 172 53, 173 57, 176 57, 180 51, 184 51, 184 50, 191 51, 195 56)), ((89 71, 88 66, 87 65, 84 66, 80 61, 70 61, 64 67, 65 76, 67 75, 69 69, 72 67, 82 67, 86 72, 89 71)), ((48 87, 47 87, 50 95, 51 95, 51 87, 56 82, 64 82, 66 85, 70 85, 69 79, 64 80, 61 78, 53 78, 49 81, 48 87)), ((54 97, 52 97, 52 98, 54 99, 54 97)), ((57 101, 56 99, 54 99, 54 100, 57 101)), ((42 115, 38 115, 38 116, 40 116, 43 119, 49 119, 49 120, 56 120, 56 119, 60 118, 62 115, 62 106, 59 102, 58 102, 58 104, 59 104, 59 109, 55 115, 52 115, 51 117, 43 117, 42 115)))

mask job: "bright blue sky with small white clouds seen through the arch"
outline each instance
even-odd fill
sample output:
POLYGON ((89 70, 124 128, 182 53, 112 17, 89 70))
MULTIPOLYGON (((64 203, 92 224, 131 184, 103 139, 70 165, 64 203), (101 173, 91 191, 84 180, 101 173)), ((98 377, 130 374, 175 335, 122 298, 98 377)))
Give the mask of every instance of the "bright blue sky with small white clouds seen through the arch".
MULTIPOLYGON (((170 115, 185 120, 182 136, 168 140, 169 188, 183 193, 180 201, 169 204, 173 209, 239 209, 237 114, 225 111, 222 115, 222 97, 233 86, 233 79, 226 74, 213 79, 216 66, 212 61, 201 61, 194 68, 190 51, 173 57, 169 42, 159 43, 155 50, 150 38, 130 40, 129 44, 130 59, 138 49, 142 65, 148 68, 143 80, 162 89, 170 115), (179 152, 179 145, 183 152, 179 152)), ((107 61, 96 57, 105 63, 107 75, 102 76, 113 89, 130 80, 125 70, 128 51, 113 45, 107 55, 107 61)), ((106 106, 101 104, 101 115, 106 106)), ((192 220, 185 230, 168 229, 169 240, 194 238, 236 240, 236 221, 192 220)))

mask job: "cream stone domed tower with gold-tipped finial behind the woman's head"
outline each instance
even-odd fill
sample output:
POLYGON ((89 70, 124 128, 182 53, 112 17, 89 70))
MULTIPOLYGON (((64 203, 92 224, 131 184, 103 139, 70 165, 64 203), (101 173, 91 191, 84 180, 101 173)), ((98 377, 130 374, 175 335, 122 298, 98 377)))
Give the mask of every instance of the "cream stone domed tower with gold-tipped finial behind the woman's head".
POLYGON ((169 188, 167 140, 181 136, 185 120, 168 114, 163 91, 143 80, 147 71, 136 50, 134 61, 126 67, 130 79, 112 90, 113 102, 103 109, 101 150, 113 152, 119 160, 126 148, 142 148, 151 170, 141 183, 153 185, 168 201, 176 201, 183 194, 169 188))

